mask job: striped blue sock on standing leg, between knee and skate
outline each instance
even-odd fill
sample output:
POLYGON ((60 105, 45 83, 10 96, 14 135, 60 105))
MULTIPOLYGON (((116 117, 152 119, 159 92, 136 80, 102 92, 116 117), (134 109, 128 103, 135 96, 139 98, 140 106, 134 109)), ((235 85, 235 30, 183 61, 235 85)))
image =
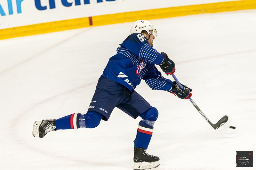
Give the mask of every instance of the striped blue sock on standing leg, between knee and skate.
MULTIPOLYGON (((155 121, 151 121, 151 122, 155 122, 155 121)), ((137 135, 134 140, 134 146, 137 148, 148 149, 148 144, 152 137, 153 129, 154 127, 147 124, 145 120, 140 121, 138 130, 137 130, 137 135)))

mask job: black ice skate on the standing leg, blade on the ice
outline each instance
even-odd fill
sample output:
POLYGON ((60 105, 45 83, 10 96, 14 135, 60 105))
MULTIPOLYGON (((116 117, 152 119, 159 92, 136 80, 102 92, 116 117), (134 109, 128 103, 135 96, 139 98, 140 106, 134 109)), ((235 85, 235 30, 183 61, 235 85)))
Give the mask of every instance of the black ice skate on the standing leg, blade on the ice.
POLYGON ((151 169, 160 165, 159 157, 149 155, 144 148, 134 147, 134 170, 151 169))

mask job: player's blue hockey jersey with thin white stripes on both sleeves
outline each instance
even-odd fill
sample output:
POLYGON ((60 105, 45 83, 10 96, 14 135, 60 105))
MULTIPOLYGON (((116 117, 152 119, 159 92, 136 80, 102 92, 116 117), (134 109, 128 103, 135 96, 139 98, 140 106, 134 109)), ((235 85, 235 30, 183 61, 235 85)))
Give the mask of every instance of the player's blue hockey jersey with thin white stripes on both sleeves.
POLYGON ((172 81, 162 77, 155 67, 155 64, 162 63, 164 56, 149 45, 144 35, 129 35, 116 51, 101 76, 124 85, 130 91, 140 84, 141 79, 153 90, 169 91, 172 88, 172 81))

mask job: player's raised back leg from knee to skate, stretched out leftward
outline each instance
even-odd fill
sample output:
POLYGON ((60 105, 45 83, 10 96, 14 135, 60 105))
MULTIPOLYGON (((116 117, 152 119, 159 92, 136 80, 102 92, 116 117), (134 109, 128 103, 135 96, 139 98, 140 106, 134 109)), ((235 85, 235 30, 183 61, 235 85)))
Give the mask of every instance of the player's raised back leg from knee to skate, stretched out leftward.
POLYGON ((36 121, 33 126, 33 136, 43 138, 50 131, 60 129, 95 128, 100 124, 102 115, 97 112, 73 113, 57 120, 36 121))

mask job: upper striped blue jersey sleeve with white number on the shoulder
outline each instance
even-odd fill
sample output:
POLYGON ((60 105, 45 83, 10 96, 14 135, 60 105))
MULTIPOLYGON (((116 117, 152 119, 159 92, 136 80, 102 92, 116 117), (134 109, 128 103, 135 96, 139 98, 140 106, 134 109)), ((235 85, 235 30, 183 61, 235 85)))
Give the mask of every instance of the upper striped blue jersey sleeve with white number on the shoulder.
POLYGON ((161 64, 164 56, 156 51, 153 46, 148 44, 148 40, 140 33, 133 33, 124 40, 120 46, 125 47, 140 60, 152 64, 161 64))

